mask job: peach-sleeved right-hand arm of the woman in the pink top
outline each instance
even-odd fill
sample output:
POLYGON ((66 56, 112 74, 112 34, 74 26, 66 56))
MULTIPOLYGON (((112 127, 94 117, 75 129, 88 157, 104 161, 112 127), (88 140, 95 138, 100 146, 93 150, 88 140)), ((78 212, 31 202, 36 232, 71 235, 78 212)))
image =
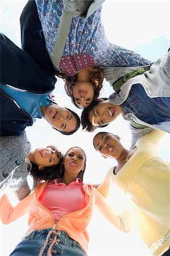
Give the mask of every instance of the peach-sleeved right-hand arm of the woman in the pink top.
POLYGON ((105 198, 96 191, 96 208, 111 224, 116 226, 119 230, 123 232, 130 232, 131 230, 131 216, 130 209, 126 207, 122 214, 116 212, 110 205, 106 202, 105 198))

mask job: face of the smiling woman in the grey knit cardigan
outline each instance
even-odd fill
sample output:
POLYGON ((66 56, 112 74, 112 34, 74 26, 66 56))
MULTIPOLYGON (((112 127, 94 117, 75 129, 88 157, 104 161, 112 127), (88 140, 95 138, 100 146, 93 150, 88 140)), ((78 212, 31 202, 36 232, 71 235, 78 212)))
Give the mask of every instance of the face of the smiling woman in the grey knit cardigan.
POLYGON ((34 151, 34 163, 42 168, 55 166, 60 163, 60 158, 51 147, 36 148, 34 151))

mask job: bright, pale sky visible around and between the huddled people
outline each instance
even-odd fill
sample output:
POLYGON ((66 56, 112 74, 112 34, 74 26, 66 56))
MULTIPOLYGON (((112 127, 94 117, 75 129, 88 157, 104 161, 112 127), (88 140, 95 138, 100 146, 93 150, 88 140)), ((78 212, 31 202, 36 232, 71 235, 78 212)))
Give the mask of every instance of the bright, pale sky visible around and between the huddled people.
MULTIPOLYGON (((0 31, 19 47, 19 16, 26 2, 25 0, 0 0, 0 31)), ((107 39, 155 61, 167 52, 170 45, 169 8, 169 1, 106 0, 103 3, 102 22, 107 39)), ((101 97, 108 97, 111 93, 113 93, 113 89, 104 81, 101 97)), ((78 115, 81 114, 81 110, 72 104, 71 99, 65 93, 64 83, 61 79, 57 79, 53 94, 57 104, 73 109, 78 115)), ((117 134, 127 149, 131 139, 127 121, 123 120, 122 117, 118 117, 109 126, 97 129, 94 133, 86 133, 80 128, 77 133, 65 136, 53 130, 44 119, 38 119, 34 126, 27 127, 26 131, 32 149, 45 147, 48 144, 54 144, 62 152, 67 151, 72 146, 83 148, 87 156, 84 182, 91 184, 100 183, 109 167, 116 164, 114 160, 103 159, 93 148, 94 135, 99 131, 117 134)), ((169 160, 168 134, 165 134, 161 139, 159 152, 165 160, 169 160)), ((29 181, 31 184, 31 180, 29 181)), ((113 189, 110 197, 109 201, 114 207, 121 207, 118 204, 123 201, 121 193, 113 189)), ((16 203, 15 200, 12 202, 13 204, 16 203)), ((1 256, 7 256, 14 250, 27 228, 27 216, 23 216, 9 225, 3 225, 0 222, 1 256)), ((119 232, 97 212, 94 213, 89 232, 89 256, 148 255, 148 251, 140 241, 135 228, 130 234, 119 232)))

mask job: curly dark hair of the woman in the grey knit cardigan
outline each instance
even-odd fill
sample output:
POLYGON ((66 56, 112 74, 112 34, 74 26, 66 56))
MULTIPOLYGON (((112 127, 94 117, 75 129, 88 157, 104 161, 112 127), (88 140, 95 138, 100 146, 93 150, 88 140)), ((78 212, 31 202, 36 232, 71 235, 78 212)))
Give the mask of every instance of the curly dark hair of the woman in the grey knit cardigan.
POLYGON ((36 183, 42 180, 54 180, 60 177, 60 169, 61 163, 63 162, 63 154, 55 146, 47 146, 54 150, 57 156, 60 158, 60 163, 56 164, 55 166, 48 166, 45 167, 42 171, 39 170, 39 166, 35 163, 32 163, 32 168, 30 171, 30 175, 33 177, 36 183))

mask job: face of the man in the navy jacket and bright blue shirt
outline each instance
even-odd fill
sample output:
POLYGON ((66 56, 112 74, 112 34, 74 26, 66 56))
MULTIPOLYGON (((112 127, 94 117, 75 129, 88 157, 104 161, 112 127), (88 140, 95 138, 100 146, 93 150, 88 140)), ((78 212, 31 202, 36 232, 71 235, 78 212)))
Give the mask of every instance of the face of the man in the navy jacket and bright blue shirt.
POLYGON ((49 125, 59 131, 69 133, 76 129, 76 117, 69 110, 59 105, 51 104, 45 108, 43 115, 49 125))

